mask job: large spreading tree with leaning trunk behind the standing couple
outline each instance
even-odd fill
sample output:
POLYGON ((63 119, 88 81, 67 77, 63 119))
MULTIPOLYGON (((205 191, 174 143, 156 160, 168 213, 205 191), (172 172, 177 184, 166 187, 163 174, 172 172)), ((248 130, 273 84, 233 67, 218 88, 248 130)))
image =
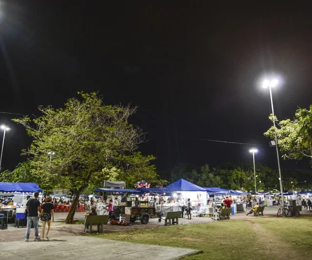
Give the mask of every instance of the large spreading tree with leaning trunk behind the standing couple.
POLYGON ((81 100, 71 98, 64 108, 39 107, 42 116, 14 120, 34 139, 23 151, 29 156, 33 176, 48 185, 69 188, 75 195, 66 223, 73 223, 79 195, 90 184, 127 178, 127 172, 135 170, 142 172, 132 181, 148 178, 148 173, 157 178, 150 166, 154 157, 134 154, 144 137, 128 122, 136 108, 104 105, 96 93, 80 94, 81 100), (130 168, 129 161, 133 163, 130 168))

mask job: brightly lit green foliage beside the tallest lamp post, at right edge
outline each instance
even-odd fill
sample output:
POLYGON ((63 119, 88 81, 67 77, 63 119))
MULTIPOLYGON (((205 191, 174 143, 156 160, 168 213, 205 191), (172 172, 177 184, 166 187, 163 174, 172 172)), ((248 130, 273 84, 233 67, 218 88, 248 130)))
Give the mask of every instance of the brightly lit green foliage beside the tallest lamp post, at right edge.
MULTIPOLYGON (((273 120, 273 116, 270 116, 273 120)), ((276 132, 277 144, 283 152, 284 159, 301 160, 308 157, 312 161, 312 105, 309 109, 299 108, 293 120, 286 119, 278 122, 278 127, 271 127, 264 133, 274 138, 276 132)))

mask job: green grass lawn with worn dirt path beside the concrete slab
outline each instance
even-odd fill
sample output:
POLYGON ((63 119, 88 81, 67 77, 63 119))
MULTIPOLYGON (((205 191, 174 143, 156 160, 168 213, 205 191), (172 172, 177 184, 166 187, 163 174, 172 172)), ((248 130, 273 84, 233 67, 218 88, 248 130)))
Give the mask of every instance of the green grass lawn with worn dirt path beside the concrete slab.
POLYGON ((258 217, 92 236, 203 251, 185 260, 312 259, 312 216, 258 217))

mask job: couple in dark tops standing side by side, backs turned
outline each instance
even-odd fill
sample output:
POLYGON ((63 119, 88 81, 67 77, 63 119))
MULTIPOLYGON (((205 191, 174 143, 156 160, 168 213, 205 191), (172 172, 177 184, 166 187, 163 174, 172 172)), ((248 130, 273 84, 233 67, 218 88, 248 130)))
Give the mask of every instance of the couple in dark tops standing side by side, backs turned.
POLYGON ((26 228, 26 234, 25 234, 25 242, 28 242, 29 240, 29 234, 30 234, 30 227, 31 224, 34 224, 35 228, 35 239, 39 239, 39 229, 38 229, 38 222, 39 217, 42 221, 42 237, 44 240, 44 231, 45 231, 45 224, 48 223, 48 230, 46 234, 46 239, 49 239, 48 234, 50 230, 51 225, 51 219, 54 222, 54 206, 51 204, 51 197, 48 197, 46 199, 46 202, 42 204, 42 209, 40 208, 40 202, 38 200, 39 192, 34 193, 34 199, 30 199, 27 201, 26 208, 28 211, 27 216, 27 228, 26 228), (39 217, 38 217, 39 212, 39 217))

